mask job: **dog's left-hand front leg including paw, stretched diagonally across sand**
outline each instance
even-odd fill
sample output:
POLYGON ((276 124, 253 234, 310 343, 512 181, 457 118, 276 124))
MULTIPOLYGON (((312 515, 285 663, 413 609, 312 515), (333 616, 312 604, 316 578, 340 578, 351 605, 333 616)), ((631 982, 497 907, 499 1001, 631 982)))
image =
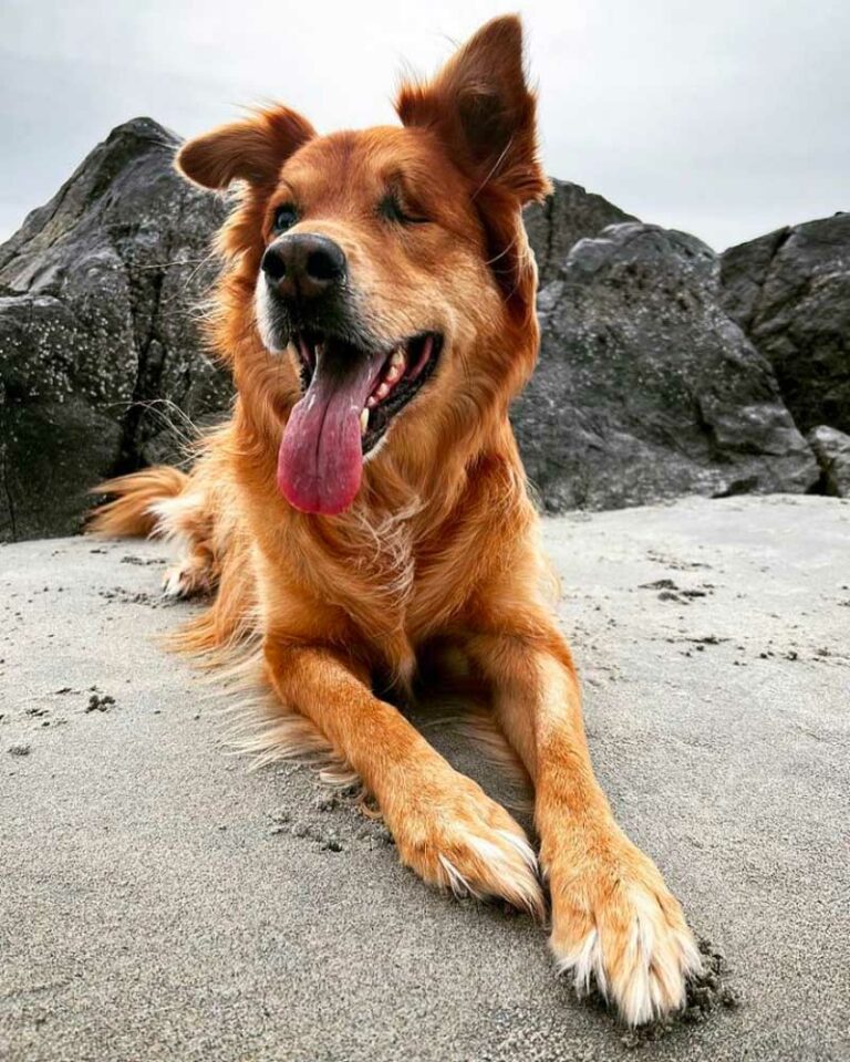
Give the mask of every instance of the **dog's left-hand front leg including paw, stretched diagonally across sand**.
POLYGON ((498 896, 539 915, 536 861, 522 829, 326 647, 267 639, 268 677, 377 799, 404 864, 456 893, 498 896))

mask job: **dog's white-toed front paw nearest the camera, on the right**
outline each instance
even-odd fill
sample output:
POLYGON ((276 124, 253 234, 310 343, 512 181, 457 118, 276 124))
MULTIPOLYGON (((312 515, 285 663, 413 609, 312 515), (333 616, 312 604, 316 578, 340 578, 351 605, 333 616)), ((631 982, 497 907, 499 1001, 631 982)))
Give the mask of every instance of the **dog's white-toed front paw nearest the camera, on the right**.
POLYGON ((682 908, 655 864, 624 841, 619 855, 549 870, 550 946, 579 996, 595 985, 630 1025, 680 1010, 702 969, 682 908))

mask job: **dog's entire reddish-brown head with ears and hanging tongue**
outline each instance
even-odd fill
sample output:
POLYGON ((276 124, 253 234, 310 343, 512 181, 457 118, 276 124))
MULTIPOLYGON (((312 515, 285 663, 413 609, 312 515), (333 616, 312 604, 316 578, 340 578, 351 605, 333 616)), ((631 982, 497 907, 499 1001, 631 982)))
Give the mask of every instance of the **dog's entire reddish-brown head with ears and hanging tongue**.
POLYGON ((384 442, 434 459, 504 418, 536 356, 520 211, 548 181, 519 20, 485 25, 396 110, 401 127, 319 136, 277 107, 177 159, 207 188, 243 183, 224 241, 228 312, 255 339, 237 383, 276 410, 278 485, 307 512, 348 508, 384 442))

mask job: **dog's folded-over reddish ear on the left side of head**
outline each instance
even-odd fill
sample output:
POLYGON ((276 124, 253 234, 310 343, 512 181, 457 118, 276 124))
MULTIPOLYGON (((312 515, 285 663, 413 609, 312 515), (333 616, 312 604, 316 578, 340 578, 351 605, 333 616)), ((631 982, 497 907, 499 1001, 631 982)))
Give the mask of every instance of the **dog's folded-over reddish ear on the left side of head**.
POLYGON ((314 136, 307 118, 288 107, 272 107, 187 140, 176 164, 204 188, 226 188, 234 180, 268 185, 277 180, 283 162, 314 136))

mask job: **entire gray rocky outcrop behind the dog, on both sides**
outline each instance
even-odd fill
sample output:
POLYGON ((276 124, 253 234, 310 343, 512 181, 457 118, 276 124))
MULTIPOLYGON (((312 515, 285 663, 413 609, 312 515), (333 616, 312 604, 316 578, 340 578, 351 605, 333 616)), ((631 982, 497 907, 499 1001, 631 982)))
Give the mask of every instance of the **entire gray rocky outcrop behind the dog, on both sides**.
MULTIPOLYGON (((75 530, 87 488, 179 459, 229 405, 197 329, 226 205, 176 175, 177 144, 149 118, 120 126, 0 247, 0 541, 75 530)), ((526 214, 543 342, 512 413, 543 507, 843 482, 771 363, 804 427, 848 427, 850 216, 721 268, 693 237, 553 186, 526 214)))

